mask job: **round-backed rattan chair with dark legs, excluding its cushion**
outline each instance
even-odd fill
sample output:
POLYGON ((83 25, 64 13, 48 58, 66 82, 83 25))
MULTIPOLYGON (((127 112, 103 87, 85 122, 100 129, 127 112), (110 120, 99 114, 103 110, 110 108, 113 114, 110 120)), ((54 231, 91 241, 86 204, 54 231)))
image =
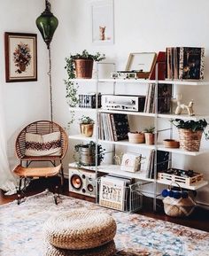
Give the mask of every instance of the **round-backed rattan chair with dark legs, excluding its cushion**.
MULTIPOLYGON (((19 189, 18 204, 20 203, 22 193, 27 187, 27 181, 31 181, 37 177, 50 177, 60 175, 61 185, 64 184, 64 172, 62 160, 66 156, 68 148, 68 137, 64 128, 60 127, 57 123, 50 120, 38 120, 27 125, 23 128, 19 136, 16 139, 15 150, 19 159, 19 166, 15 167, 14 173, 19 175, 19 189), (59 155, 44 155, 44 156, 26 156, 26 134, 35 135, 49 135, 51 133, 59 132, 60 141, 58 141, 61 147, 61 153, 59 155), (52 164, 52 167, 29 167, 32 162, 47 161, 52 164), (22 183, 24 182, 24 184, 22 183)), ((57 204, 57 198, 55 197, 55 203, 57 204)))

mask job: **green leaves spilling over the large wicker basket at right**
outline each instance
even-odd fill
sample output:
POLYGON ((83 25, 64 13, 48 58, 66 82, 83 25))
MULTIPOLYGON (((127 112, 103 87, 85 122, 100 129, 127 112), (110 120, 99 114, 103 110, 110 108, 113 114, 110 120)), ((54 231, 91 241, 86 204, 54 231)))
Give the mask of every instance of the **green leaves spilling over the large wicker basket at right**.
POLYGON ((182 120, 182 119, 174 119, 174 120, 170 120, 172 122, 172 124, 176 127, 176 128, 183 128, 183 129, 190 129, 193 132, 196 131, 203 131, 205 134, 205 139, 208 140, 209 139, 209 134, 208 132, 205 133, 205 128, 207 127, 208 123, 205 119, 203 120, 182 120))

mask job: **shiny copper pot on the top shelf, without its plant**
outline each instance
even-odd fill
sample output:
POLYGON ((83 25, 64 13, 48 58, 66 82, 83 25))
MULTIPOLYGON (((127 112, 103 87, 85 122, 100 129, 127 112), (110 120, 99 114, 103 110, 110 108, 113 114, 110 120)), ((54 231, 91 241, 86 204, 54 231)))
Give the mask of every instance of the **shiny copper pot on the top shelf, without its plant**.
POLYGON ((93 63, 93 59, 74 59, 76 78, 91 78, 93 63))

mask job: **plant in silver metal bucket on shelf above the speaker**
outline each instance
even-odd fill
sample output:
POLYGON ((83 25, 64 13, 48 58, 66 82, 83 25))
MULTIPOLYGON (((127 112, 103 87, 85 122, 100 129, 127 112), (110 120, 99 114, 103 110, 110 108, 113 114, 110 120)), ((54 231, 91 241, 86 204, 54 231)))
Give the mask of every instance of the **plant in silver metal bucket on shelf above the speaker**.
POLYGON ((74 155, 74 159, 79 167, 81 166, 99 166, 104 159, 104 149, 100 144, 90 141, 89 144, 76 144, 74 150, 78 153, 78 158, 74 155), (97 149, 97 152, 96 152, 97 149), (97 158, 96 158, 97 153, 97 158))

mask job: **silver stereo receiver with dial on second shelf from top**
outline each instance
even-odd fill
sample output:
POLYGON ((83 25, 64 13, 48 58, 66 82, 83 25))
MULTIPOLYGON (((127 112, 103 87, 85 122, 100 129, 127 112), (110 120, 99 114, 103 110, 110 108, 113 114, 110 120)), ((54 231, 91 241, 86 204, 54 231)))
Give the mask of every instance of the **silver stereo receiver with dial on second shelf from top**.
POLYGON ((102 108, 143 112, 145 96, 102 95, 102 108))

